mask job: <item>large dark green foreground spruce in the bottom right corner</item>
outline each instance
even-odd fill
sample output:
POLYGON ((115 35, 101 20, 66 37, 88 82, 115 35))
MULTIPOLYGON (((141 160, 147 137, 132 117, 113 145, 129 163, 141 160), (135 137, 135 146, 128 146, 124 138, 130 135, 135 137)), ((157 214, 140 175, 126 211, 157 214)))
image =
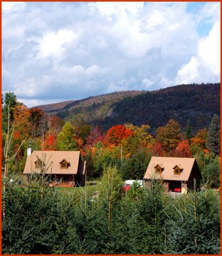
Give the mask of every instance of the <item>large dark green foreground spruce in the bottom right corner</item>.
POLYGON ((165 209, 168 254, 219 254, 219 198, 210 194, 194 189, 165 209))

